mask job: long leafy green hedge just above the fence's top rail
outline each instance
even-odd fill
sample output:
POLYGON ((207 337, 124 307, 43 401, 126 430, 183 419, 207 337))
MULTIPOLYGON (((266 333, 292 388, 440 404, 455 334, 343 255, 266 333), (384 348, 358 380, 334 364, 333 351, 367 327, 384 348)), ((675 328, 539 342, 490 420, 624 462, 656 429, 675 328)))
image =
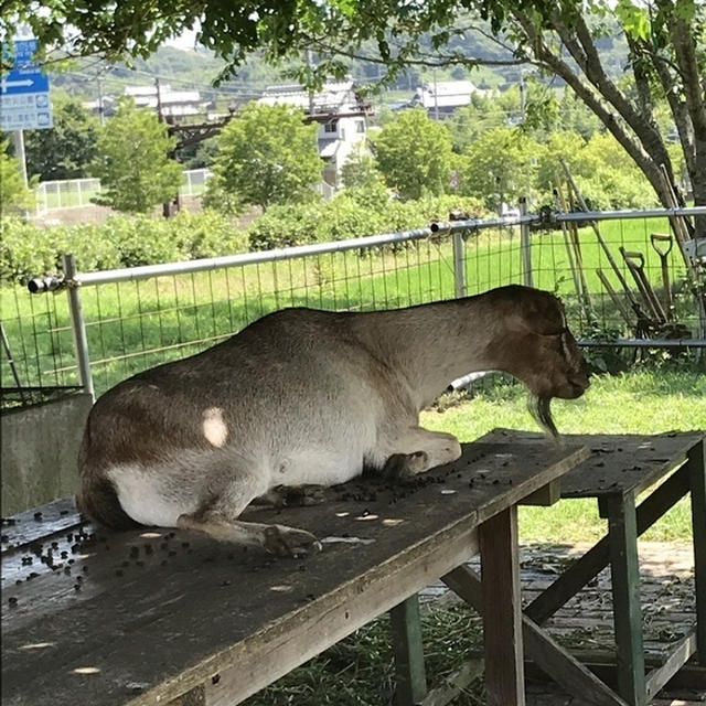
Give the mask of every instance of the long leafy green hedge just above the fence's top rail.
POLYGON ((272 206, 247 231, 215 211, 182 212, 170 220, 111 216, 103 225, 40 227, 18 218, 1 222, 0 278, 24 284, 61 271, 61 255, 73 253, 81 271, 136 267, 200 257, 266 250, 307 243, 406 231, 461 210, 481 215, 480 202, 462 196, 391 200, 378 185, 349 189, 331 201, 272 206))

